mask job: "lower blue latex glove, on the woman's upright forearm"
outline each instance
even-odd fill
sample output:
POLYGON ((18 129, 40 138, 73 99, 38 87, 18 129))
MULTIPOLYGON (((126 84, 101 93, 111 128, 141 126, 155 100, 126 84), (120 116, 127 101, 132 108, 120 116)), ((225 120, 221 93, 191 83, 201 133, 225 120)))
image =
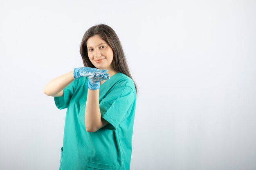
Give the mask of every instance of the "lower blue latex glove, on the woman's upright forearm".
POLYGON ((108 73, 95 72, 94 75, 88 76, 88 88, 90 90, 97 90, 100 88, 100 82, 106 79, 110 79, 108 73))

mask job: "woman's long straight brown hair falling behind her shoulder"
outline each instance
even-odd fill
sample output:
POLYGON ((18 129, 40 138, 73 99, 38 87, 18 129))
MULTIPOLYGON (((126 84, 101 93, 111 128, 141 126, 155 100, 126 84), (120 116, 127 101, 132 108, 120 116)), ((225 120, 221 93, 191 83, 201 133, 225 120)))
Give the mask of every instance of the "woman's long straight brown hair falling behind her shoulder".
POLYGON ((114 53, 113 61, 112 61, 113 68, 115 69, 115 71, 123 73, 132 79, 132 81, 135 84, 135 90, 137 95, 137 85, 130 74, 126 57, 124 55, 124 51, 121 46, 121 42, 117 37, 117 34, 115 33, 115 31, 110 26, 106 24, 98 24, 98 25, 92 26, 90 29, 88 29, 85 32, 85 34, 83 35, 81 46, 80 46, 80 54, 83 59, 83 65, 85 67, 96 68, 88 57, 88 51, 87 51, 88 49, 86 45, 87 40, 94 35, 99 35, 102 40, 104 40, 111 46, 114 53))

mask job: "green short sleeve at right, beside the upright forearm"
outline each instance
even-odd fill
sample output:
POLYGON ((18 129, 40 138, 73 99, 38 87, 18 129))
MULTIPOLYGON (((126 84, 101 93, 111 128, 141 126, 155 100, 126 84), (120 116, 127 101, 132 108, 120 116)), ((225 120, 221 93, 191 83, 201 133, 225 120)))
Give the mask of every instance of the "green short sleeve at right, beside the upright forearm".
POLYGON ((131 111, 136 96, 130 86, 112 90, 99 104, 101 117, 109 122, 104 128, 115 131, 131 111))

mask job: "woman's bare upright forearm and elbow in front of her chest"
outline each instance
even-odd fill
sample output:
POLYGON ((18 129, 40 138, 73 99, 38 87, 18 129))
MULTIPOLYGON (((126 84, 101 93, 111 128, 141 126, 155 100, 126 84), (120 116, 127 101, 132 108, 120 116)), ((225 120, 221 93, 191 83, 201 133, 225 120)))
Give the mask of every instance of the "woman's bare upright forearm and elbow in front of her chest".
POLYGON ((99 89, 90 90, 88 88, 87 101, 85 106, 85 128, 87 132, 96 132, 100 128, 109 124, 101 117, 99 109, 99 89))

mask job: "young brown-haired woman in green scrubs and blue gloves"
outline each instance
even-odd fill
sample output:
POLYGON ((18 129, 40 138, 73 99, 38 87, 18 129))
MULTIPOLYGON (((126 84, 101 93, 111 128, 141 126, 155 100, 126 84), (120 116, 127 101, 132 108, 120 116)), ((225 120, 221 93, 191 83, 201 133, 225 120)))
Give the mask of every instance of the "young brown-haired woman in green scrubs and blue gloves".
POLYGON ((74 68, 44 89, 67 108, 60 170, 129 170, 137 86, 115 31, 106 24, 83 35, 85 67, 74 68))

